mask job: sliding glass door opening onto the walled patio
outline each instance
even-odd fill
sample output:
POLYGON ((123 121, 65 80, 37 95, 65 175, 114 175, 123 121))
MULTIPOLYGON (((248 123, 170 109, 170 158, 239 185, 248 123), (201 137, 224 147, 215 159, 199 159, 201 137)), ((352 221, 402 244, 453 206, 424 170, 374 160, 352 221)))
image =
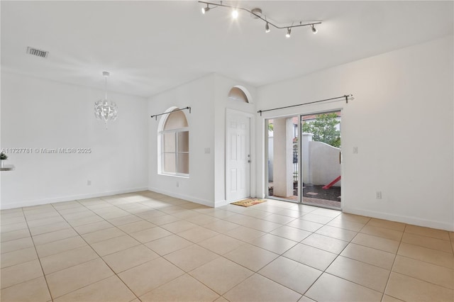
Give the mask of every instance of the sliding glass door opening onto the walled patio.
POLYGON ((266 122, 267 197, 341 209, 341 111, 266 122))

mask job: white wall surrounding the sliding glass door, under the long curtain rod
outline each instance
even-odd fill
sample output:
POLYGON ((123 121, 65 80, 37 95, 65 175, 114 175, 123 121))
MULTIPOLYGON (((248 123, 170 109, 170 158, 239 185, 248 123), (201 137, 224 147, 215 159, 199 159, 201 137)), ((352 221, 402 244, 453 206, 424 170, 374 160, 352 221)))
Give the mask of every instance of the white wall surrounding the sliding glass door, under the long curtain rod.
MULTIPOLYGON (((354 94, 349 104, 271 111, 264 118, 343 108, 343 211, 454 230, 453 82, 448 36, 259 87, 258 109, 354 94)), ((257 125, 264 129, 263 118, 257 125)), ((263 162, 262 153, 258 148, 263 162)), ((263 181, 258 191, 265 192, 263 181)))

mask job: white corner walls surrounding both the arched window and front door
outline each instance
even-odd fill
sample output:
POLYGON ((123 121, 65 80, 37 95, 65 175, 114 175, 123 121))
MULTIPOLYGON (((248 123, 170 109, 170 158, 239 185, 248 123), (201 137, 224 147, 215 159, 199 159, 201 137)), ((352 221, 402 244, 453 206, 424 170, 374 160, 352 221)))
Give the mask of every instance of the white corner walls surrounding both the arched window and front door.
MULTIPOLYGON (((171 106, 179 108, 190 106, 192 108, 190 114, 188 111, 184 111, 189 123, 189 178, 158 174, 157 126, 159 118, 158 121, 150 118, 148 184, 150 190, 207 206, 221 206, 226 203, 226 108, 248 113, 253 113, 255 110, 254 104, 228 99, 228 91, 235 85, 245 86, 221 75, 211 74, 148 99, 149 116, 165 112, 171 106), (210 153, 205 153, 206 148, 209 148, 210 153)), ((246 86, 246 88, 254 98, 253 87, 246 86)), ((251 150, 255 152, 254 142, 251 143, 251 150)), ((253 174, 255 174, 255 170, 251 172, 251 175, 253 174)), ((255 189, 255 183, 251 186, 255 189)))

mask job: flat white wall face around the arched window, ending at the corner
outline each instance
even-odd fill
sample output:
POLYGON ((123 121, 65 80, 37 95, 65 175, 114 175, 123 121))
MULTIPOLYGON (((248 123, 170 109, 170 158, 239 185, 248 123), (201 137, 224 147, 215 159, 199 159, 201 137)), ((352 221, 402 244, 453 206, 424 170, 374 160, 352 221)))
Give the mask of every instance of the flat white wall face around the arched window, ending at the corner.
POLYGON ((215 77, 210 75, 148 99, 150 190, 214 206, 214 84, 215 77), (172 106, 192 108, 192 113, 183 111, 189 124, 189 178, 158 174, 157 171, 158 123, 165 116, 158 117, 157 121, 150 116, 172 106), (209 153, 205 153, 206 148, 209 153))

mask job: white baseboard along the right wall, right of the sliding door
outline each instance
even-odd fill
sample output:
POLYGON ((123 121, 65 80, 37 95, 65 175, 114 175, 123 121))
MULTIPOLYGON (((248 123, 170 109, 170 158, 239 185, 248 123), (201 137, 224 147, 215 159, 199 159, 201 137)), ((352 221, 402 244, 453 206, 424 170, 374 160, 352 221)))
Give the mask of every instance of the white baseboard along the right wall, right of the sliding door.
POLYGON ((423 226, 426 228, 437 228, 440 230, 454 231, 454 221, 451 223, 445 223, 445 222, 441 222, 441 221, 427 220, 427 219, 421 219, 421 218, 416 218, 416 217, 411 217, 411 216, 394 215, 394 214, 390 214, 390 213, 369 211, 369 210, 363 210, 363 209, 358 209, 358 208, 349 208, 349 207, 345 207, 345 206, 342 207, 342 211, 343 211, 343 213, 350 213, 350 214, 355 214, 355 215, 368 216, 368 217, 372 217, 372 218, 397 221, 399 223, 408 223, 411 225, 419 225, 419 226, 423 226))

